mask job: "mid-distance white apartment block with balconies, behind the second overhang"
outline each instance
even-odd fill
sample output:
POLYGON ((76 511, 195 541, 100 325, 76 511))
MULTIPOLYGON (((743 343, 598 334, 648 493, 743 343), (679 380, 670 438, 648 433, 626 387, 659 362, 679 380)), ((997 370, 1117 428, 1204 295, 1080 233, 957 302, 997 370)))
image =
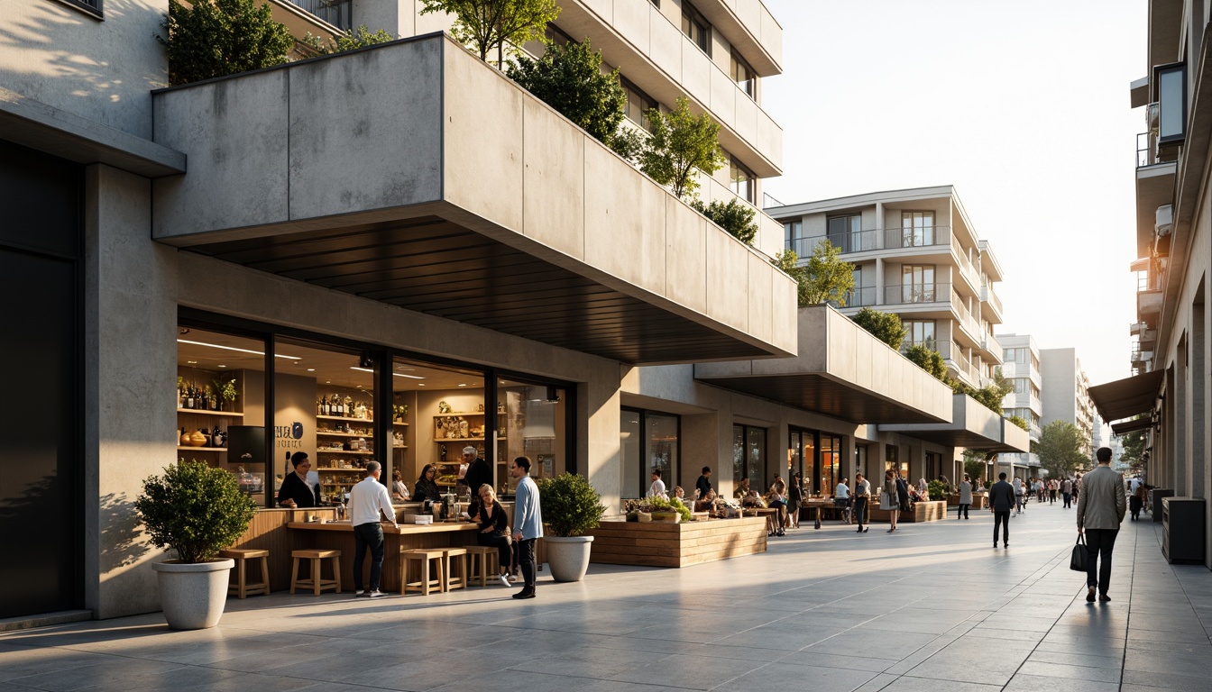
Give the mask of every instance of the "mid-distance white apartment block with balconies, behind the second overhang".
POLYGON ((828 240, 854 265, 842 314, 894 313, 903 348, 928 345, 951 376, 972 387, 1001 365, 994 337, 1004 308, 994 290, 1001 265, 950 185, 870 193, 766 210, 782 222, 784 247, 801 258, 828 240))

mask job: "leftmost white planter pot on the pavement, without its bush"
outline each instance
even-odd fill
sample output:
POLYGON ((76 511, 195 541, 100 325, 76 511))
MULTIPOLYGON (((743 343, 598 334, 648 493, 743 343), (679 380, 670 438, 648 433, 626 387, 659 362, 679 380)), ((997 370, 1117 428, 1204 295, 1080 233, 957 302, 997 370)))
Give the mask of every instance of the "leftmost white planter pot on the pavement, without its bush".
POLYGON ((172 629, 215 627, 227 605, 228 578, 235 560, 185 565, 176 560, 153 562, 160 582, 160 607, 172 629))

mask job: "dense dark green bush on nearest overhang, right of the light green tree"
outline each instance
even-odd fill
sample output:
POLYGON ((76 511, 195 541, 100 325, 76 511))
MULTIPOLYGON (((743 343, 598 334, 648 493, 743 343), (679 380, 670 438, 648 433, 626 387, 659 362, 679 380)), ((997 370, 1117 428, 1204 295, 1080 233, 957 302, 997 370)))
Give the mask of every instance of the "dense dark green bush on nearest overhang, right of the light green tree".
POLYGON ((599 142, 610 144, 623 121, 627 93, 618 70, 602 73, 602 55, 589 39, 560 46, 548 42, 543 56, 518 56, 507 74, 522 88, 576 122, 599 142))

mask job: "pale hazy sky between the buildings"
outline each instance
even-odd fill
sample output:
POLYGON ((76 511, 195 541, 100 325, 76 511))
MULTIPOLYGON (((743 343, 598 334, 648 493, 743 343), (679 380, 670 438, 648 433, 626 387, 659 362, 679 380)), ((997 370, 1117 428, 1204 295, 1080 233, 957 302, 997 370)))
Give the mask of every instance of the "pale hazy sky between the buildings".
POLYGON ((1005 280, 996 333, 1131 374, 1147 0, 764 0, 784 204, 953 184, 1005 280))

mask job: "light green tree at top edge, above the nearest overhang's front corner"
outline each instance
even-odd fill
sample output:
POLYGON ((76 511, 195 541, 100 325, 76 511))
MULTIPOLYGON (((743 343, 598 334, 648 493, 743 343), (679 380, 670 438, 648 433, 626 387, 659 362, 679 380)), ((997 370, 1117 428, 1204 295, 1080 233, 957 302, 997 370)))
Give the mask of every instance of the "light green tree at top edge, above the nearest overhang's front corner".
POLYGON ((543 38, 548 22, 560 16, 555 0, 422 0, 422 15, 445 12, 454 16, 451 35, 488 62, 497 53, 497 69, 504 61, 504 45, 521 46, 543 38))

